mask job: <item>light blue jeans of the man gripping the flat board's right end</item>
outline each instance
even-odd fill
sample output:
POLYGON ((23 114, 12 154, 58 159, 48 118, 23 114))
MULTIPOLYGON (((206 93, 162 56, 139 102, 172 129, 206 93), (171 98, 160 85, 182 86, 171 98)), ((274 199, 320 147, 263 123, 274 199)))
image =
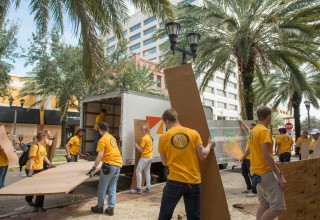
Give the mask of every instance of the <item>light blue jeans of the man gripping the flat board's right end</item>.
POLYGON ((108 193, 108 207, 114 208, 116 205, 117 182, 120 175, 120 167, 110 165, 110 173, 108 175, 100 171, 100 179, 98 185, 98 207, 104 206, 104 198, 108 193))

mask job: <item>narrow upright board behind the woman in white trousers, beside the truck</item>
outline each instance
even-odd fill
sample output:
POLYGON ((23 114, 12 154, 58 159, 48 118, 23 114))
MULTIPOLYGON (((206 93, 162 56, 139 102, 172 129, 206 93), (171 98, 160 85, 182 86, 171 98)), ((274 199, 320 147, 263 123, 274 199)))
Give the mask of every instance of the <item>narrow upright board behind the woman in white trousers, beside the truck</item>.
MULTIPOLYGON (((141 133, 141 127, 143 125, 148 125, 148 121, 147 120, 138 120, 135 119, 134 120, 134 139, 135 142, 140 146, 141 140, 142 140, 142 133, 141 133)), ((134 146, 132 146, 134 147, 134 146)), ((134 147, 135 148, 135 147, 134 147)), ((134 171, 133 171, 133 178, 132 178, 132 183, 131 183, 131 189, 136 188, 137 187, 137 175, 136 175, 136 169, 138 166, 138 162, 141 158, 141 152, 138 151, 135 148, 135 160, 134 160, 134 171)), ((141 186, 144 186, 144 182, 145 182, 146 178, 144 175, 144 172, 142 172, 142 183, 141 186)))

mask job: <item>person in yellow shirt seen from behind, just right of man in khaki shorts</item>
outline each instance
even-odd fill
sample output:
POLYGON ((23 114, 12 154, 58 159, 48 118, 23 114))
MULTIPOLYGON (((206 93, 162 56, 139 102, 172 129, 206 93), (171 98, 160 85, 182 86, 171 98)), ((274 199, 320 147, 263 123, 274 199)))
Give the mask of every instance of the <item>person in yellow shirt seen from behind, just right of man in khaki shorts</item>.
POLYGON ((276 138, 276 154, 279 155, 280 162, 290 162, 293 146, 292 137, 287 135, 286 128, 279 128, 279 133, 276 138))

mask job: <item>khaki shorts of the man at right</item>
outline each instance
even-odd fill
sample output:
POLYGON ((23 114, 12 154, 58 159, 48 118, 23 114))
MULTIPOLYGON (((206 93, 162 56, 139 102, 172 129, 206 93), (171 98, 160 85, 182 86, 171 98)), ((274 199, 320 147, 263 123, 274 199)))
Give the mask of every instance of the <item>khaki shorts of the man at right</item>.
POLYGON ((261 182, 257 185, 257 192, 260 205, 273 210, 286 210, 283 191, 272 172, 261 175, 261 182))

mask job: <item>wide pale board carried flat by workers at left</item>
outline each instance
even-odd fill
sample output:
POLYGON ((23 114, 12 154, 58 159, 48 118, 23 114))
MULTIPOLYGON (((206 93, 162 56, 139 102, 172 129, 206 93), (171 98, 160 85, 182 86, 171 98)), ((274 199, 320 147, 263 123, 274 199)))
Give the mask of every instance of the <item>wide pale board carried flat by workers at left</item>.
POLYGON ((86 173, 93 164, 94 162, 62 164, 8 185, 0 189, 0 195, 66 194, 89 178, 86 173))

